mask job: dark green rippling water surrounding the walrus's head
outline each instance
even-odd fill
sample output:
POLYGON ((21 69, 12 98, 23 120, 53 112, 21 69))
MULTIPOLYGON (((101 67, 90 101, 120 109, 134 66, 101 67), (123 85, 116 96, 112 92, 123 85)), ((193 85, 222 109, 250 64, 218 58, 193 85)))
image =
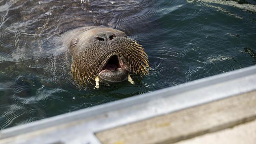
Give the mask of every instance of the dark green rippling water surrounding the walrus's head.
POLYGON ((255 13, 255 0, 0 0, 0 129, 255 65, 255 13), (60 37, 85 25, 139 41, 150 75, 75 84, 60 37))

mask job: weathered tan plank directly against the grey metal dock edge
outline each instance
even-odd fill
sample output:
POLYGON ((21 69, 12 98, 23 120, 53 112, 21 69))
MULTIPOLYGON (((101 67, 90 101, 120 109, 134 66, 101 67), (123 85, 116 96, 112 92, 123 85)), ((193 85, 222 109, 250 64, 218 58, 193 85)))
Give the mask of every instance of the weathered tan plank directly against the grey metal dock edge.
POLYGON ((254 119, 256 91, 97 132, 96 136, 103 144, 174 143, 254 119))

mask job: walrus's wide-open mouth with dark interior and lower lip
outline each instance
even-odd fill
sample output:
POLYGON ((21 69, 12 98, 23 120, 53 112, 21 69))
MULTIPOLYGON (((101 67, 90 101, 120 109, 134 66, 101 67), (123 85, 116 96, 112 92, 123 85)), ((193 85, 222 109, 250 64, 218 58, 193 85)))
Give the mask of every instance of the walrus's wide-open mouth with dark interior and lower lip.
POLYGON ((101 82, 117 83, 127 80, 128 71, 122 67, 116 55, 110 57, 104 68, 99 73, 101 82))

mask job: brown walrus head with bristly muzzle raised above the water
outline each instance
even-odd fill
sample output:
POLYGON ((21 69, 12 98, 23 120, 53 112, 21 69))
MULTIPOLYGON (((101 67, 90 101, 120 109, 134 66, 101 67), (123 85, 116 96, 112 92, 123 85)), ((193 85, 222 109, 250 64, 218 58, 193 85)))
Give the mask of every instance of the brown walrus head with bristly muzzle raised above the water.
POLYGON ((91 27, 70 41, 73 57, 71 73, 77 82, 115 83, 127 80, 129 73, 148 73, 148 58, 144 48, 119 30, 91 27))

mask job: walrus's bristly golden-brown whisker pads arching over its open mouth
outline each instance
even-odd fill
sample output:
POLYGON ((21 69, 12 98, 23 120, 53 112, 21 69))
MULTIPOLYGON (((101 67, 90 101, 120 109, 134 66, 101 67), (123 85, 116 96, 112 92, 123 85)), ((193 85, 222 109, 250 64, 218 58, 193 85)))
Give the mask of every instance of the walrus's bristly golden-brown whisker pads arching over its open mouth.
MULTIPOLYGON (((76 81, 84 84, 91 83, 93 80, 98 81, 98 73, 103 69, 108 59, 114 55, 130 73, 148 74, 148 57, 144 48, 137 41, 126 37, 116 37, 106 46, 94 43, 93 46, 89 45, 73 58, 71 72, 76 81), (108 48, 105 48, 106 46, 108 48)), ((134 83, 132 80, 130 82, 134 83)), ((98 83, 96 86, 99 86, 98 83)))

